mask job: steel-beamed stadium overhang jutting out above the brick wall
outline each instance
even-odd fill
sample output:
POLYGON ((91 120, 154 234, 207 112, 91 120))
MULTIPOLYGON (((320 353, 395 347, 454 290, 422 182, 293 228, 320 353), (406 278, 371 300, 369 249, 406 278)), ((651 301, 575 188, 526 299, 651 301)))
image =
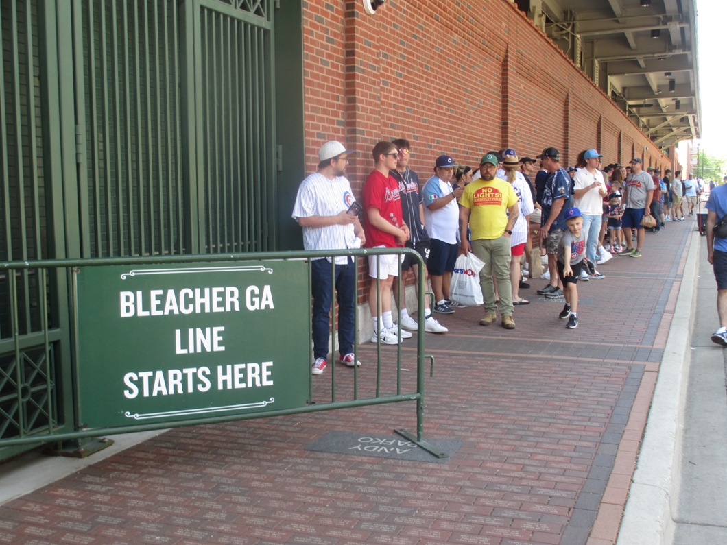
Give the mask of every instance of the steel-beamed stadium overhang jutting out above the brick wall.
POLYGON ((694 0, 516 0, 664 150, 699 138, 694 0))

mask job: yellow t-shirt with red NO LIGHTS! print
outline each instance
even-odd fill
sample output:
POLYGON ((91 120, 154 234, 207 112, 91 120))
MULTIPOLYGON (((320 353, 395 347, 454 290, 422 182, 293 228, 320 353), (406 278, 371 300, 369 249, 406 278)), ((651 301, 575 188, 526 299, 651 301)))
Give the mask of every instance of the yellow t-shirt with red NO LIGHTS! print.
POLYGON ((507 227, 507 209, 518 203, 513 186, 504 179, 476 179, 465 187, 459 203, 470 209, 472 240, 499 238, 507 227))

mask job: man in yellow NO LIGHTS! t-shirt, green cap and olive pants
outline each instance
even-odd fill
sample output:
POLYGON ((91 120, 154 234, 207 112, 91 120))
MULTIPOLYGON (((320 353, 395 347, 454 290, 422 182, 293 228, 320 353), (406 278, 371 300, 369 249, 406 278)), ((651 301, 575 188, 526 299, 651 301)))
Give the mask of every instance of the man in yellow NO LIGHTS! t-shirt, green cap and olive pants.
POLYGON ((510 235, 518 219, 518 195, 513 186, 495 177, 498 158, 487 153, 480 161, 481 177, 465 187, 459 204, 462 243, 459 253, 470 251, 485 262, 480 271, 480 286, 485 301, 481 326, 497 320, 497 302, 492 274, 497 278, 502 327, 515 329, 513 296, 510 286, 510 235), (467 241, 467 227, 472 241, 467 241))

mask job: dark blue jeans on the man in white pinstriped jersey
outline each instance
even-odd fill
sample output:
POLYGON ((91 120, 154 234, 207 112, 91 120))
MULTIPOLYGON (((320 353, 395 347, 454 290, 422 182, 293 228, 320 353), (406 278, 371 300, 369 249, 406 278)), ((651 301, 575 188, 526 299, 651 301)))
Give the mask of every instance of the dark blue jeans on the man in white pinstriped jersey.
POLYGON ((331 302, 333 287, 338 302, 338 349, 342 356, 353 353, 356 333, 353 321, 356 312, 356 263, 348 258, 345 265, 336 265, 335 273, 328 259, 313 259, 310 264, 313 294, 313 358, 328 356, 331 332, 331 302))

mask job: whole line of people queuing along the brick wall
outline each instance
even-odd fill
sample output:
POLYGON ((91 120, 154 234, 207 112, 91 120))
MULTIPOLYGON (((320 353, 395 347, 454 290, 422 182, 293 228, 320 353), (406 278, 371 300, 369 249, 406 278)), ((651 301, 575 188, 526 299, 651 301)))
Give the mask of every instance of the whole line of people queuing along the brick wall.
MULTIPOLYGON (((411 142, 406 139, 382 141, 374 146, 374 169, 364 183, 361 206, 345 177, 352 151, 340 142, 326 142, 318 151, 317 171, 300 185, 292 214, 302 227, 307 250, 406 246, 422 257, 425 270, 418 270, 416 263, 406 256, 369 256, 368 303, 374 343, 398 344, 411 337, 407 330, 416 330, 418 326, 406 309, 404 294, 401 320, 398 324, 393 320, 392 295, 398 301, 398 286, 406 284, 406 278, 395 281, 400 257, 402 275, 412 270, 415 277, 424 274, 430 280, 435 304, 430 308, 426 302, 425 331, 443 334, 448 330, 434 318, 434 313, 451 314, 462 306, 449 296, 451 274, 459 254, 472 251, 485 263, 480 273, 484 300, 481 325, 495 323, 499 311, 502 327, 514 329, 514 307, 529 304, 518 291, 527 286, 521 280, 523 261, 530 262, 529 270, 533 272, 533 247, 542 248, 547 255, 546 275, 550 283, 538 293, 548 299, 564 297, 561 318, 568 319, 567 327, 575 328, 577 280, 603 278, 595 267, 589 269, 588 265, 611 259, 602 244, 606 230, 611 251, 640 257, 642 219, 652 214, 659 218, 659 210, 651 209, 655 180, 643 171, 640 158, 630 162, 630 172, 623 180, 620 166, 604 169, 613 172, 609 187, 597 150, 582 152, 577 162, 579 168, 569 169, 571 172, 561 166, 560 153, 555 148, 545 148, 537 156, 539 170, 534 159, 518 158, 512 148, 485 153, 476 169, 458 168, 454 158, 442 155, 435 161, 433 176, 421 185, 417 173, 409 168, 411 151, 411 142), (534 173, 533 184, 530 177, 534 173), (363 221, 358 217, 361 210, 363 221), (533 220, 539 221, 536 231, 531 229, 533 220), (619 237, 622 230, 624 236, 619 237), (635 246, 631 230, 637 233, 635 246)), ((673 191, 674 195, 677 193, 673 191)), ((677 205, 674 198, 674 206, 677 205)), ((663 222, 657 219, 656 225, 663 222)), ((356 264, 351 257, 334 259, 334 264, 330 258, 314 259, 312 264, 313 374, 323 373, 328 363, 329 312, 334 288, 339 304, 340 363, 360 365, 353 355, 356 264)))

